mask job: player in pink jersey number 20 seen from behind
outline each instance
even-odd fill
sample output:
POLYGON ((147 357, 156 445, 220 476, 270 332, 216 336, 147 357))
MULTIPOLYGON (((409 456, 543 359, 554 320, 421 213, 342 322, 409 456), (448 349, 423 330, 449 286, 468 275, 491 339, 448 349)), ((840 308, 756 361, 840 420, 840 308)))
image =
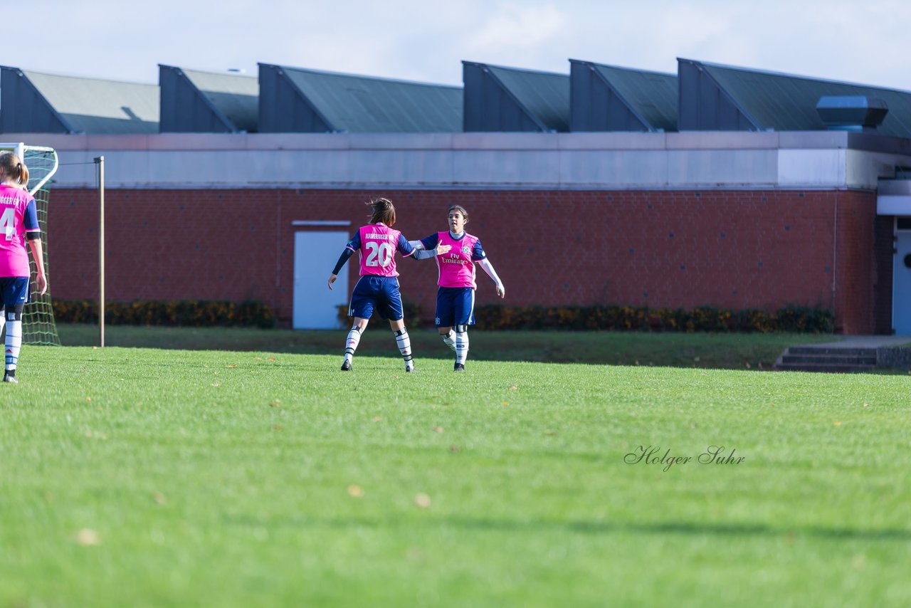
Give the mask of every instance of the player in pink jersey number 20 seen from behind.
POLYGON ((380 316, 389 320, 389 326, 395 335, 395 343, 404 359, 404 371, 413 372, 415 361, 411 352, 411 338, 404 328, 402 295, 399 293, 398 272, 395 270, 395 252, 401 253, 404 257, 414 255, 415 259, 424 260, 437 253, 448 252, 449 247, 440 246, 434 251, 430 251, 430 248, 415 251, 401 232, 393 230, 395 207, 392 201, 376 199, 367 204, 373 210, 370 224, 361 226, 354 232, 329 277, 329 289, 333 289, 333 283, 343 265, 354 252, 358 252, 361 278, 354 285, 351 304, 348 306, 348 315, 354 317, 354 325, 345 341, 342 371, 351 370, 354 351, 360 344, 363 330, 367 328, 367 322, 375 309, 379 311, 380 316))

